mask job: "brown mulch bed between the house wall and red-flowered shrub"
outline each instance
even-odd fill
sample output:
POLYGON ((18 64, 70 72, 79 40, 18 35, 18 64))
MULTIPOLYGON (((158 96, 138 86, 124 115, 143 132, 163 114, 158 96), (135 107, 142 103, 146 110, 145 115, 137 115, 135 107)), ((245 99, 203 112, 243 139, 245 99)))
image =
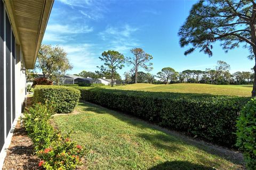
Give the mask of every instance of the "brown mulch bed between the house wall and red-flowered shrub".
POLYGON ((3 170, 42 169, 38 167, 39 161, 39 158, 34 155, 33 142, 28 137, 25 128, 18 121, 13 133, 11 145, 7 150, 3 170))

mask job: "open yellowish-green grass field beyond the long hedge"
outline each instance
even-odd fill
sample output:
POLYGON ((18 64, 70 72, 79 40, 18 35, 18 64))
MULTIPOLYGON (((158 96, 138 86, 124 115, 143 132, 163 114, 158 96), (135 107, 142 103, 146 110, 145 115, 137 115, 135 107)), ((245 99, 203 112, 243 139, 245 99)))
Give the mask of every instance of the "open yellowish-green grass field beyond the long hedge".
MULTIPOLYGON (((111 88, 105 86, 105 88, 111 88)), ((142 90, 142 91, 162 91, 162 92, 182 92, 199 93, 228 96, 251 96, 252 85, 213 85, 213 84, 128 84, 126 86, 114 86, 114 89, 122 90, 142 90)))

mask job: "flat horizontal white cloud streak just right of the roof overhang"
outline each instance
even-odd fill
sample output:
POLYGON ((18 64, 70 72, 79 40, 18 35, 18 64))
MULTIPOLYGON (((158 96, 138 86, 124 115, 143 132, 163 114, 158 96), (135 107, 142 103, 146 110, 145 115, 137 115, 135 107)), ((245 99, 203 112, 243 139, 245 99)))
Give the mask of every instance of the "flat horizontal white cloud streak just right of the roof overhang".
POLYGON ((93 28, 88 25, 61 25, 50 24, 47 25, 46 31, 58 34, 74 34, 74 33, 88 33, 92 32, 93 28))

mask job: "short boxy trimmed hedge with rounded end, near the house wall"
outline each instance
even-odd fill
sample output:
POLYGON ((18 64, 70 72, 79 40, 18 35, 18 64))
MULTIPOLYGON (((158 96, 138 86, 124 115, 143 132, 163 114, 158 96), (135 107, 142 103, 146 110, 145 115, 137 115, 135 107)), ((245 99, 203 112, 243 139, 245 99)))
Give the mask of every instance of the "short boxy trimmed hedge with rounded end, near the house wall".
POLYGON ((34 102, 43 104, 50 102, 57 113, 72 112, 79 97, 79 90, 65 86, 37 85, 34 90, 34 102))

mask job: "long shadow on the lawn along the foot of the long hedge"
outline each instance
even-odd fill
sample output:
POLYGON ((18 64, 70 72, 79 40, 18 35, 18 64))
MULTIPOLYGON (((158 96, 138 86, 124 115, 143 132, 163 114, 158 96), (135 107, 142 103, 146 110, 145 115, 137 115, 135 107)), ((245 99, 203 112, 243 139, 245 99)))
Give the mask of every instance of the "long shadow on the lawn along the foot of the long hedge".
MULTIPOLYGON (((160 132, 163 132, 164 134, 150 134, 150 133, 140 133, 138 136, 140 138, 146 139, 150 143, 152 143, 155 147, 159 149, 166 149, 169 152, 173 152, 175 150, 182 150, 182 148, 177 147, 175 145, 183 145, 183 146, 194 146, 198 148, 199 150, 205 151, 212 155, 217 155, 220 157, 225 158, 226 160, 229 160, 230 162, 234 164, 243 164, 243 156, 239 152, 236 151, 230 151, 228 149, 217 147, 214 145, 209 145, 209 143, 206 143, 204 141, 195 141, 192 140, 185 135, 182 135, 178 132, 170 131, 165 128, 161 128, 157 125, 150 124, 146 121, 140 120, 139 118, 135 118, 131 115, 124 114, 122 112, 116 112, 113 110, 110 110, 108 108, 91 104, 91 103, 79 103, 79 106, 83 106, 86 108, 83 108, 83 111, 90 111, 95 112, 99 114, 109 114, 112 115, 118 120, 121 120, 123 122, 129 123, 137 128, 140 129, 153 129, 158 130, 160 132), (173 143, 172 146, 170 146, 170 142, 173 143)), ((199 155, 198 155, 198 159, 199 155)), ((205 162, 204 158, 200 159, 201 162, 205 162)))

